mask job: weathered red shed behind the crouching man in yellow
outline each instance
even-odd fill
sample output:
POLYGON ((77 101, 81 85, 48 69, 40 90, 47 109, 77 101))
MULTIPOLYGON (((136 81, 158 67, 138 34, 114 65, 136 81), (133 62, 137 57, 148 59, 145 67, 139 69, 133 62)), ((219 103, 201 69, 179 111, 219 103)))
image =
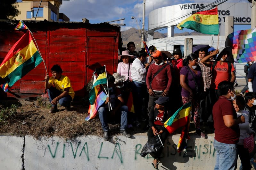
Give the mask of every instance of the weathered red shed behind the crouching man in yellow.
MULTIPOLYGON (((107 71, 117 70, 120 27, 108 23, 23 21, 34 34, 38 48, 50 72, 54 64, 62 67, 70 78, 75 99, 86 95, 86 85, 95 68, 106 65, 107 71)), ((18 21, 0 20, 0 63, 12 45, 24 34, 14 31, 18 21)), ((7 92, 8 97, 36 97, 45 94, 43 62, 17 81, 7 92)), ((51 76, 51 73, 49 74, 51 76)), ((4 83, 0 79, 0 83, 4 83)), ((0 93, 3 97, 3 93, 0 93)))

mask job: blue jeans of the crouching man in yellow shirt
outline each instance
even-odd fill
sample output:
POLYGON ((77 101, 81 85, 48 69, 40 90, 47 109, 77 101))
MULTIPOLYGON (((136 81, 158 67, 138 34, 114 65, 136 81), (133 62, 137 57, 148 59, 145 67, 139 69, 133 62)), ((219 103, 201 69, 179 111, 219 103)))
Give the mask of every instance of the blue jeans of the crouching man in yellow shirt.
MULTIPOLYGON (((49 89, 47 89, 48 92, 48 96, 50 99, 50 102, 52 102, 52 100, 56 97, 58 97, 62 92, 57 90, 55 87, 50 87, 49 89)), ((59 100, 59 103, 61 106, 64 107, 70 107, 70 102, 72 101, 72 97, 68 94, 65 97, 62 97, 59 100)), ((54 107, 55 109, 57 109, 57 105, 52 105, 52 107, 54 107)))

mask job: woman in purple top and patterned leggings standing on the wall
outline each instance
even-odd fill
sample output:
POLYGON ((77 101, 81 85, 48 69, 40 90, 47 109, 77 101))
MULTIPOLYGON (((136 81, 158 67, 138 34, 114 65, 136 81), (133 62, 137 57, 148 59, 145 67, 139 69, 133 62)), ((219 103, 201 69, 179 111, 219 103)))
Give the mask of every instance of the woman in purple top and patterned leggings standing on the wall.
POLYGON ((198 65, 198 55, 190 54, 183 60, 183 67, 180 70, 180 85, 182 103, 185 105, 191 102, 192 115, 194 112, 195 134, 205 138, 205 134, 200 129, 199 108, 200 92, 203 91, 203 79, 201 68, 198 65))

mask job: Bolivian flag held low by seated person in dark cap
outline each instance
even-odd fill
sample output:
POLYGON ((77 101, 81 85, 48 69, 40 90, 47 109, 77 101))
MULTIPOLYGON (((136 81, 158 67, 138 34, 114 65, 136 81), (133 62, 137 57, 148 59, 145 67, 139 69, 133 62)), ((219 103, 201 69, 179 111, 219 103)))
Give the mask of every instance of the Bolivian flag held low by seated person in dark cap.
POLYGON ((191 116, 190 111, 191 102, 179 108, 166 122, 164 122, 164 127, 169 131, 169 133, 173 133, 179 127, 187 125, 191 116))

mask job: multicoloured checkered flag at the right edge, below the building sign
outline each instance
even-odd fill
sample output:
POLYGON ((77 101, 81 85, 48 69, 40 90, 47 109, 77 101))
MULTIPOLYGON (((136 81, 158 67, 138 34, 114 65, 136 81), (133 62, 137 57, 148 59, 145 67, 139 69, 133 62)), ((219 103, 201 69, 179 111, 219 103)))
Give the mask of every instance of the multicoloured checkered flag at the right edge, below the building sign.
POLYGON ((234 61, 238 63, 256 61, 256 28, 236 31, 229 34, 228 38, 233 43, 234 61))

